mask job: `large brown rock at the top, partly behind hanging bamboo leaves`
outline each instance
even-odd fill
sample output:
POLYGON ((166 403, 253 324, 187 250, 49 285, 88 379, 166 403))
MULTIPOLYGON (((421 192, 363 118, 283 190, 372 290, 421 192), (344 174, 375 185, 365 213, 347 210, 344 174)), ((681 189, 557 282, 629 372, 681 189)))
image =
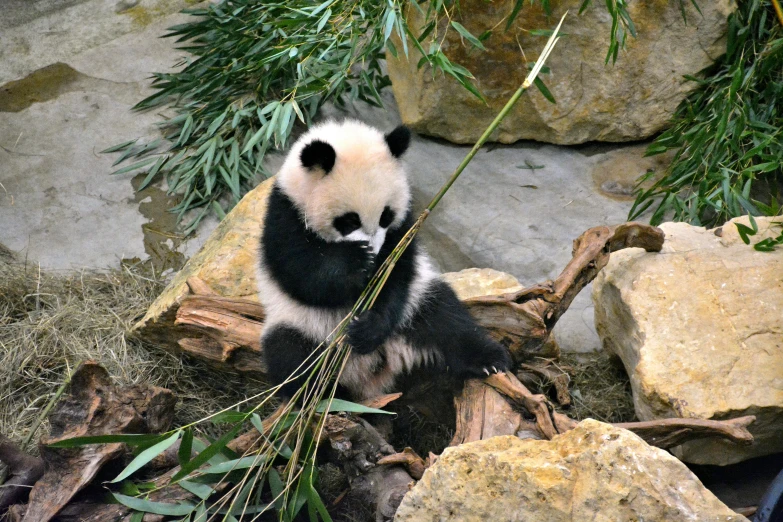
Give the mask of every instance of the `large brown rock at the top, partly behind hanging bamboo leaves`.
MULTIPOLYGON (((576 13, 581 0, 553 4, 546 17, 540 3, 528 3, 509 31, 504 18, 515 1, 460 2, 454 19, 474 35, 492 30, 484 42, 486 52, 460 42, 450 30, 443 51, 454 63, 467 67, 476 77, 484 105, 452 77, 436 74, 417 64, 421 54, 408 43, 405 59, 401 42, 398 58, 388 56, 389 77, 404 123, 416 132, 438 136, 455 143, 474 143, 505 105, 528 73, 546 38, 533 36, 530 29, 551 29, 566 11, 562 32, 567 34, 549 57, 552 73, 542 75, 557 104, 549 103, 535 88, 524 95, 500 125, 493 139, 511 143, 533 139, 559 144, 591 140, 640 140, 661 131, 675 108, 695 84, 683 75, 696 74, 723 54, 727 16, 735 9, 731 0, 701 2, 700 15, 690 2, 630 2, 628 11, 637 29, 628 37, 627 48, 617 63, 605 64, 611 18, 602 3, 576 13), (687 24, 680 7, 684 6, 687 24)), ((424 16, 408 9, 409 24, 419 34, 424 16)), ((442 38, 448 20, 444 17, 431 38, 442 38)))

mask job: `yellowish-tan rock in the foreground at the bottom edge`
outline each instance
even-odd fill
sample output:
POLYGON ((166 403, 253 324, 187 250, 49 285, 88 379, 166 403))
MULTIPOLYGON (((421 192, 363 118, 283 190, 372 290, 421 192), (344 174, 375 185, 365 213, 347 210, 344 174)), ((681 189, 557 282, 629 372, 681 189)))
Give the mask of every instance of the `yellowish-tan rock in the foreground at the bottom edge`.
POLYGON ((447 448, 394 520, 747 519, 667 452, 588 419, 551 441, 505 436, 447 448))

